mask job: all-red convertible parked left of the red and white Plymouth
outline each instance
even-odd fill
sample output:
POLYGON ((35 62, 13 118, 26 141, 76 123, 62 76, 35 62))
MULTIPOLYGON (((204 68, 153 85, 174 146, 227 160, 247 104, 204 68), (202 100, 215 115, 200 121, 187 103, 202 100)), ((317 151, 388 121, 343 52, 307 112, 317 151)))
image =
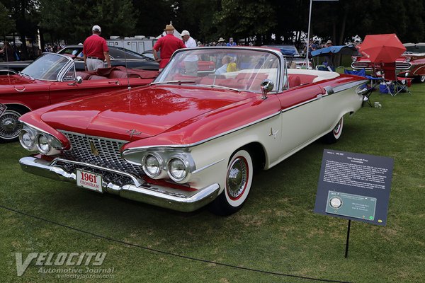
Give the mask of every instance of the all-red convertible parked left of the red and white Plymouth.
POLYGON ((22 128, 18 118, 30 110, 128 86, 143 86, 157 75, 158 71, 125 67, 75 71, 70 57, 44 53, 19 74, 0 75, 0 104, 7 107, 0 113, 0 142, 18 139, 22 128))

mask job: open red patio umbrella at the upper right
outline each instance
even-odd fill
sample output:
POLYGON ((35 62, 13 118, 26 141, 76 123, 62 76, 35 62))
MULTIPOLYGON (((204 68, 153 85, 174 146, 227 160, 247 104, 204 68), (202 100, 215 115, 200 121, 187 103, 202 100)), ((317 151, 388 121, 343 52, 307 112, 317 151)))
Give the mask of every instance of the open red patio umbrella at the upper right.
POLYGON ((366 35, 363 43, 359 45, 361 54, 374 63, 395 62, 406 47, 398 39, 395 33, 387 35, 366 35))

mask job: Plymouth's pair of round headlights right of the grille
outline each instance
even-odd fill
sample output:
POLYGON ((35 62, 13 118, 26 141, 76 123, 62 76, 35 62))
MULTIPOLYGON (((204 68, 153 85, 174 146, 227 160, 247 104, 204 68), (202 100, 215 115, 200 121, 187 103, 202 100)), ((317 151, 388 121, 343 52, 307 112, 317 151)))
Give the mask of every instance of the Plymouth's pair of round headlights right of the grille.
POLYGON ((168 175, 176 183, 185 183, 189 175, 188 162, 183 156, 162 158, 157 153, 149 153, 142 159, 142 168, 149 178, 161 179, 168 175))

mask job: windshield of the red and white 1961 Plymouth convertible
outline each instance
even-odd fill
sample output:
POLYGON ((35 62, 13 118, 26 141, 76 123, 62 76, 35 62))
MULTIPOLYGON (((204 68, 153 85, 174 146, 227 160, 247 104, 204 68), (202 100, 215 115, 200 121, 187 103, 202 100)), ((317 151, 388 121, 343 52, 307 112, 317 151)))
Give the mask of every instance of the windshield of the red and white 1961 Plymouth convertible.
POLYGON ((201 47, 179 50, 154 83, 187 83, 261 92, 264 79, 278 89, 280 58, 267 50, 201 47))

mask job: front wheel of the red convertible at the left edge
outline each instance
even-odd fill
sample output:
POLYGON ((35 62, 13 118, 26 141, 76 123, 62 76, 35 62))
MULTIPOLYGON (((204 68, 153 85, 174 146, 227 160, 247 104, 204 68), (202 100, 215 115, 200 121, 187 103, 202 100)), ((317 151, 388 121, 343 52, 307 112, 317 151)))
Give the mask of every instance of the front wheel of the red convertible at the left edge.
POLYGON ((12 106, 8 107, 0 116, 0 143, 17 141, 22 129, 22 122, 18 119, 24 114, 12 106))

